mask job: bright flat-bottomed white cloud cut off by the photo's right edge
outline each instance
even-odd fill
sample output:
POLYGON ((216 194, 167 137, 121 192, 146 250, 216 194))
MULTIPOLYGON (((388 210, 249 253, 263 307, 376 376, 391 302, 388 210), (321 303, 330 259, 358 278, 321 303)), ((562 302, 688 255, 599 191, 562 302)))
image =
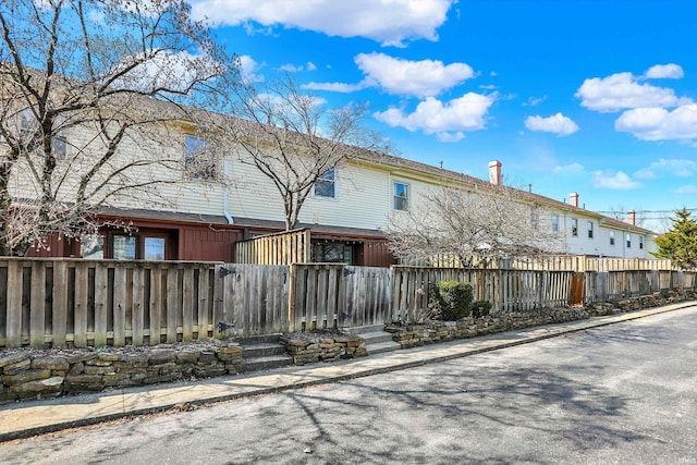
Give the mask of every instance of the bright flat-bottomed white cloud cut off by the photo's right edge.
POLYGON ((697 138, 697 103, 669 111, 662 108, 627 110, 614 123, 616 131, 641 140, 689 140, 697 138))

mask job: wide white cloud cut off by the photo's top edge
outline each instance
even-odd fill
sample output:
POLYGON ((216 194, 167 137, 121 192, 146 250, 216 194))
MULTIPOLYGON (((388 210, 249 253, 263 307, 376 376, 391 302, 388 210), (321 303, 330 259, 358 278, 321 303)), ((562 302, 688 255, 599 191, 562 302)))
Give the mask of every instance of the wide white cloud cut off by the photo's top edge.
POLYGON ((189 0, 192 14, 216 25, 255 22, 329 36, 367 37, 386 46, 438 40, 436 29, 456 0, 189 0))

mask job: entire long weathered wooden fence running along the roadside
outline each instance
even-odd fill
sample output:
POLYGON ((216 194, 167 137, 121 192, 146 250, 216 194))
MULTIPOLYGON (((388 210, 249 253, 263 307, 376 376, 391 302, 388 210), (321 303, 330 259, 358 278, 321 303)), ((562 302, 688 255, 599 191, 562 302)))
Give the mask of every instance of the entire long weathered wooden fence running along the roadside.
POLYGON ((0 259, 0 347, 142 345, 413 321, 428 308, 429 285, 445 280, 470 282, 475 298, 499 313, 697 287, 687 271, 9 258, 0 259))

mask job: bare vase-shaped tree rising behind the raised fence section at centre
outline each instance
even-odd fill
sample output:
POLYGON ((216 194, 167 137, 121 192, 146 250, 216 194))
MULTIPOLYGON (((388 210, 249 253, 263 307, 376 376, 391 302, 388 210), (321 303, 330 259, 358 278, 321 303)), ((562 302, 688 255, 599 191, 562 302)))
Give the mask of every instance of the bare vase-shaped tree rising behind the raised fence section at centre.
POLYGON ((272 182, 283 200, 285 229, 297 225, 303 204, 318 183, 365 151, 388 150, 380 136, 362 123, 366 105, 325 109, 323 100, 302 93, 289 75, 270 85, 235 86, 233 113, 216 127, 219 143, 233 143, 239 161, 272 182))

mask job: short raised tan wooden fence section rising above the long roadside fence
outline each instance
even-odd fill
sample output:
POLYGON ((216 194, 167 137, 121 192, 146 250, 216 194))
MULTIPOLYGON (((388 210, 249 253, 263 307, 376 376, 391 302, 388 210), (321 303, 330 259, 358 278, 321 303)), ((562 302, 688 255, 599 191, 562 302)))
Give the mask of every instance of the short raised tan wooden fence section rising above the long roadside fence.
POLYGON ((310 261, 310 231, 266 234, 235 243, 237 264, 291 265, 310 261))

